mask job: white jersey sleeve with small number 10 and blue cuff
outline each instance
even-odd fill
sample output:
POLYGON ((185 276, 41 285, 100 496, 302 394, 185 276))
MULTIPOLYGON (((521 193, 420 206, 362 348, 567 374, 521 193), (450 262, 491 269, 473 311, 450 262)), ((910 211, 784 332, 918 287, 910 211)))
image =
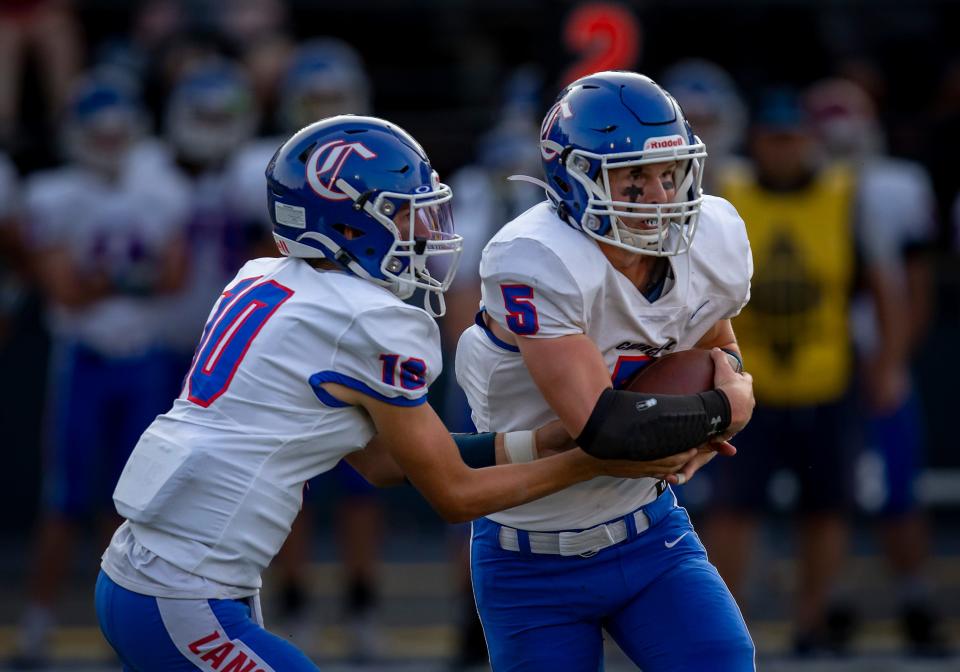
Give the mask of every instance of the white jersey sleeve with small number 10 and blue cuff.
POLYGON ((331 369, 310 382, 315 390, 338 383, 389 404, 416 406, 427 400, 442 366, 433 318, 411 306, 376 308, 354 318, 337 343, 331 369))

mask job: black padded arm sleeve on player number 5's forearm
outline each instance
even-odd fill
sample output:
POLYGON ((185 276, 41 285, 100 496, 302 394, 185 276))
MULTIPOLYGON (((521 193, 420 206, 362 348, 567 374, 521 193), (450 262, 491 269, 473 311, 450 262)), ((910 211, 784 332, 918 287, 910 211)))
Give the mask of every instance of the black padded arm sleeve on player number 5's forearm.
POLYGON ((657 460, 699 446, 729 424, 721 390, 677 396, 607 388, 577 445, 601 459, 657 460))

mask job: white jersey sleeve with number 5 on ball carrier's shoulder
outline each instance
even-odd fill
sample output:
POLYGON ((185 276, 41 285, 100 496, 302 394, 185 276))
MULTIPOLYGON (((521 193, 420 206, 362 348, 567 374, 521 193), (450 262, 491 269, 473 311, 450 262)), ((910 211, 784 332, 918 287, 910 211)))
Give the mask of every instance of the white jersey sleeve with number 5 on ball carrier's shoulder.
POLYGON ((587 330, 587 302, 573 271, 538 241, 491 243, 480 279, 484 309, 519 336, 557 338, 587 330))

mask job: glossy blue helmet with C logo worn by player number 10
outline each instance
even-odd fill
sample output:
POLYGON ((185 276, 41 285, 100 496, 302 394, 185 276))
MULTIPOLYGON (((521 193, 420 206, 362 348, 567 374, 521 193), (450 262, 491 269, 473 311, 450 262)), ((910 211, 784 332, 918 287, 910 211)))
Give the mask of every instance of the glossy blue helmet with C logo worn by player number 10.
POLYGON ((330 259, 403 299, 424 290, 424 308, 443 314, 463 239, 450 187, 406 131, 375 117, 324 119, 287 140, 266 176, 282 254, 330 259))

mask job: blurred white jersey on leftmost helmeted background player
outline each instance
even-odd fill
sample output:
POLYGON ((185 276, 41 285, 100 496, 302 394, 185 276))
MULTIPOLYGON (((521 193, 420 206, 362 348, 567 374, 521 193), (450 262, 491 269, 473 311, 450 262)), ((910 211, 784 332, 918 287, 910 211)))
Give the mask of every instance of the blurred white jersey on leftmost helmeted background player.
MULTIPOLYGON (((159 272, 182 232, 186 194, 159 171, 135 171, 109 183, 67 167, 40 173, 26 189, 25 229, 41 251, 66 247, 82 273, 112 278, 159 272)), ((143 354, 159 345, 163 299, 114 294, 81 308, 50 306, 53 333, 112 357, 143 354)))

